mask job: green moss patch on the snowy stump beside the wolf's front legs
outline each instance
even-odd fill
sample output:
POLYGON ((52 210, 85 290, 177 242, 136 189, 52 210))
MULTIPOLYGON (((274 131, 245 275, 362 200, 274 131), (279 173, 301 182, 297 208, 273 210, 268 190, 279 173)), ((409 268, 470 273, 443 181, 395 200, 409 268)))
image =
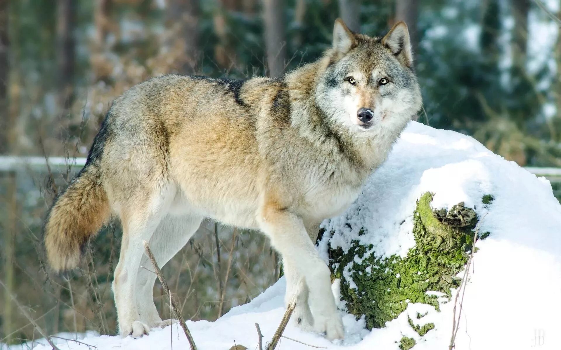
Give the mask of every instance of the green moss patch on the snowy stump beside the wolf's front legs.
MULTIPOLYGON (((357 319, 364 315, 369 329, 381 328, 397 318, 409 302, 433 305, 440 311, 436 296, 426 292, 440 291, 450 296, 450 288, 461 283, 456 274, 463 270, 472 249, 477 215, 463 203, 450 211, 434 210, 432 200, 433 194, 427 192, 417 201, 413 213, 416 245, 405 258, 381 258, 371 251, 371 245, 358 241, 353 241, 346 253, 341 248, 329 250, 333 278, 341 278, 341 297, 348 312, 357 319), (355 261, 356 256, 361 263, 355 261), (343 276, 347 265, 352 281, 343 276), (352 282, 356 288, 351 287, 352 282)), ((425 334, 432 328, 434 325, 429 324, 416 330, 425 334)))

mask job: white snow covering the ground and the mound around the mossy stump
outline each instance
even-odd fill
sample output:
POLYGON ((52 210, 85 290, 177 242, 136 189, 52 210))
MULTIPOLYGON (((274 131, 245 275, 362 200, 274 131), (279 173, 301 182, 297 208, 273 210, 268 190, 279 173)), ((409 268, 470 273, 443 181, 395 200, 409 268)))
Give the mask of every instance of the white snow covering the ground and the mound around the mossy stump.
MULTIPOLYGON (((456 349, 561 349, 561 206, 547 180, 494 155, 473 138, 412 122, 356 203, 341 217, 324 222, 324 227, 344 233, 333 237, 343 247, 353 238, 367 239, 380 254, 404 255, 414 243, 415 200, 426 191, 436 193, 434 207, 449 208, 463 201, 467 207, 475 207, 480 218, 488 213, 481 231, 491 235, 477 242, 480 250, 465 293, 456 349), (484 194, 495 198, 488 207, 481 204, 484 194), (358 208, 360 214, 356 215, 358 208), (344 225, 348 221, 353 223, 352 229, 344 225), (361 225, 375 233, 358 237, 361 225)), ((269 340, 284 312, 284 288, 284 279, 280 279, 249 304, 234 307, 215 322, 188 321, 197 347, 227 350, 242 344, 255 349, 255 323, 264 340, 269 340)), ((447 349, 454 303, 440 300, 441 312, 410 304, 385 328, 371 332, 363 329, 364 322, 344 315, 346 338, 339 343, 301 332, 292 324, 284 335, 314 346, 348 350, 398 349, 397 342, 406 335, 417 340, 415 350, 447 349), (427 311, 417 320, 417 312, 427 311), (435 329, 419 337, 407 322, 408 314, 420 325, 433 322, 435 329)), ((81 340, 98 349, 169 349, 172 341, 174 348, 188 348, 177 325, 153 330, 140 339, 100 336, 81 340)), ((60 348, 88 347, 64 343, 60 348)), ((310 349, 288 339, 282 339, 279 348, 310 349)))

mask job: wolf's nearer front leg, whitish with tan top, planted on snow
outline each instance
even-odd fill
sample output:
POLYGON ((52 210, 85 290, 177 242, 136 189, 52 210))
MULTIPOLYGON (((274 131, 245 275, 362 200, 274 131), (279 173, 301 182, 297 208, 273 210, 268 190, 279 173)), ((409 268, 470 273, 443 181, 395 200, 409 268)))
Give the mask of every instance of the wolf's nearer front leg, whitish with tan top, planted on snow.
POLYGON ((325 332, 328 339, 342 339, 343 323, 331 291, 329 268, 311 242, 302 218, 278 206, 265 206, 259 220, 274 248, 304 276, 310 290, 314 330, 325 332))

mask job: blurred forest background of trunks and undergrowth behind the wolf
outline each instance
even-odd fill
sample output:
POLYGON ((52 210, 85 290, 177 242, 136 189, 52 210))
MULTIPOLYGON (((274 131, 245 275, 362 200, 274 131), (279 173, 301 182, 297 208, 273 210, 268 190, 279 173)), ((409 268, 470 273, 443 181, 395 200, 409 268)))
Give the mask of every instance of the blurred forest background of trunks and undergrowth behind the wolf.
MULTIPOLYGON (((0 0, 0 155, 66 160, 0 164, 0 348, 38 338, 12 296, 49 334, 116 332, 118 223, 69 279, 50 276, 40 254, 45 212, 113 99, 167 73, 280 76, 329 47, 337 17, 373 36, 406 21, 419 122, 521 166, 561 167, 560 0, 0 0)), ((186 319, 214 320, 279 265, 264 237, 205 222, 164 273, 186 319)), ((157 282, 169 318, 162 293, 157 282)))

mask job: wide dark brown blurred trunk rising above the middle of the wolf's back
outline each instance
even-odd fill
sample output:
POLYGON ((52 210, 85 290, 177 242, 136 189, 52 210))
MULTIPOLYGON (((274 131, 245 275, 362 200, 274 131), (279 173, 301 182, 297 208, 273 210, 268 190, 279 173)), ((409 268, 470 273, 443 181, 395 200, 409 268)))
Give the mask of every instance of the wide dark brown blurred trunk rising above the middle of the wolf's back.
POLYGON ((199 55, 199 1, 167 0, 165 17, 168 27, 183 41, 185 55, 178 67, 180 73, 195 73, 199 55))

